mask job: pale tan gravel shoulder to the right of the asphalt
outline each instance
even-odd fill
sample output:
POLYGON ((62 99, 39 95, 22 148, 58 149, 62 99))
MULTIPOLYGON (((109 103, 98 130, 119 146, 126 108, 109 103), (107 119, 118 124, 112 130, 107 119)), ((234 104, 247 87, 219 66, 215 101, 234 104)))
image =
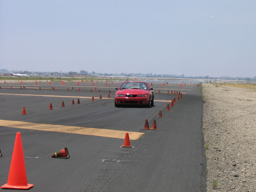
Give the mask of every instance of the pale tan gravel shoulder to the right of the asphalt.
POLYGON ((202 89, 206 191, 256 191, 256 89, 202 89))

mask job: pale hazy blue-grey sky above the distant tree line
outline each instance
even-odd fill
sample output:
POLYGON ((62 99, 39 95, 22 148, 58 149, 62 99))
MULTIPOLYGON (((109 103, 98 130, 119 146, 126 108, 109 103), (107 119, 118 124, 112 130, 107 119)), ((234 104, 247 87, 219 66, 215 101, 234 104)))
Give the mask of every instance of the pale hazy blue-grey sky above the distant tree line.
POLYGON ((0 69, 253 77, 255 10, 255 0, 0 0, 0 69))

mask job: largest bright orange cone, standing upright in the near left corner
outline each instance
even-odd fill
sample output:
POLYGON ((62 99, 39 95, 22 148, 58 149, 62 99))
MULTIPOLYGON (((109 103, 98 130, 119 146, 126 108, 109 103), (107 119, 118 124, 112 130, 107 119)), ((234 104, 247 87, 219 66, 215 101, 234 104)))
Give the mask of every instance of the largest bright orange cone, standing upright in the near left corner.
POLYGON ((17 132, 8 181, 5 185, 1 186, 1 188, 29 189, 33 186, 33 184, 28 184, 21 136, 20 132, 17 132))

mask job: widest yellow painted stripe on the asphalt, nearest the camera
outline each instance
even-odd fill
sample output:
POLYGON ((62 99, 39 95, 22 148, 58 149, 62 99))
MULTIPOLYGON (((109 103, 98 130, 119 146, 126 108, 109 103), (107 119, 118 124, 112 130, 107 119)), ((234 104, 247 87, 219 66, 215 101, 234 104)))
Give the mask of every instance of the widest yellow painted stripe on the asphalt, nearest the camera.
MULTIPOLYGON (((131 140, 138 140, 144 134, 140 132, 118 131, 118 130, 111 130, 111 129, 98 129, 98 128, 53 125, 53 124, 39 124, 39 123, 9 121, 9 120, 0 120, 0 125, 3 127, 12 127, 12 128, 18 128, 18 129, 76 133, 76 134, 82 134, 82 135, 94 135, 94 136, 111 137, 111 138, 118 138, 118 139, 124 139, 125 133, 128 132, 131 140)), ((2 133, 0 133, 0 135, 1 134, 2 133)))

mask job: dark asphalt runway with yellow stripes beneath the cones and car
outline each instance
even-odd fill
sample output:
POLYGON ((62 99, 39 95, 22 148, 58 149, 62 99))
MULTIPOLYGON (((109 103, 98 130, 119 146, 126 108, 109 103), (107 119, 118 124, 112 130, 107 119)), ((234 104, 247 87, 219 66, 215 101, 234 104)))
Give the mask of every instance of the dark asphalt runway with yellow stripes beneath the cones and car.
POLYGON ((0 186, 7 183, 20 132, 30 191, 206 191, 200 86, 153 83, 153 107, 115 108, 120 85, 1 82, 0 186), (182 92, 182 99, 167 91, 182 92), (174 107, 165 111, 174 97, 174 107), (23 106, 27 115, 20 115, 23 106), (159 109, 163 118, 157 118, 159 109), (156 119, 158 131, 142 130, 145 119, 150 128, 156 119), (126 132, 132 148, 121 148, 126 132), (69 159, 51 157, 66 146, 69 159))

